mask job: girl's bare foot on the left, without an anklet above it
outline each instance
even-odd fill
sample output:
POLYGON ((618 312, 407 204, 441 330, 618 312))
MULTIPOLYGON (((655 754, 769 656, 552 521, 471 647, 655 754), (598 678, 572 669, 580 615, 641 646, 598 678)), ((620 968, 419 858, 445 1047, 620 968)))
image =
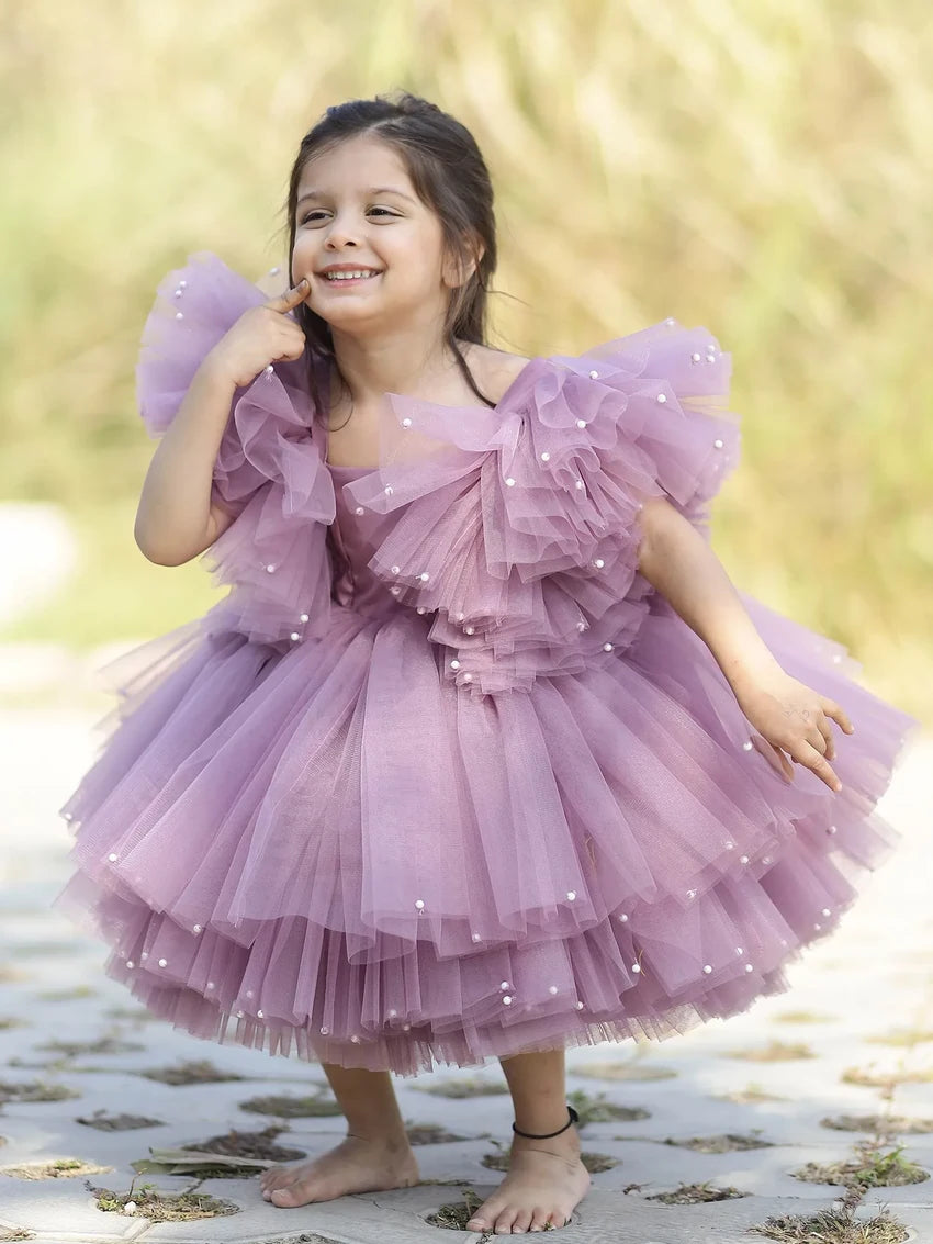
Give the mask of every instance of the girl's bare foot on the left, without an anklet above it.
POLYGON ((320 1158, 270 1167, 259 1183, 266 1200, 292 1209, 312 1200, 335 1200, 352 1192, 411 1188, 419 1178, 407 1137, 364 1140, 347 1136, 320 1158))

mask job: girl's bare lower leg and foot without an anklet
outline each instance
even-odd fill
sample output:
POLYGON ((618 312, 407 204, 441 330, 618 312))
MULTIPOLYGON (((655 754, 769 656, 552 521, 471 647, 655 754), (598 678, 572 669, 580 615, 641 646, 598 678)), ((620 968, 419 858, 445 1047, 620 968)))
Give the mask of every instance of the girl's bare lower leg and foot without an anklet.
POLYGON ((265 1199, 291 1209, 352 1192, 384 1192, 418 1183, 418 1163, 389 1072, 332 1062, 321 1066, 346 1115, 347 1136, 320 1158, 264 1171, 260 1188, 265 1199))

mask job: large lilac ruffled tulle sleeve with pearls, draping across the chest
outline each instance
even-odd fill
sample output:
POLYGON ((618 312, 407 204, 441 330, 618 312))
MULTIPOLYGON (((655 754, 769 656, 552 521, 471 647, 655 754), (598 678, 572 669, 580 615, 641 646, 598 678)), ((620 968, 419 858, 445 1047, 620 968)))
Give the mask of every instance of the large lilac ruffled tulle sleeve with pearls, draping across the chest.
POLYGON ((531 360, 494 411, 389 396, 381 469, 347 490, 404 508, 369 567, 434 613, 452 680, 527 689, 631 646, 657 595, 638 573, 642 506, 666 496, 708 537, 738 464, 729 376, 705 328, 666 320, 531 360))

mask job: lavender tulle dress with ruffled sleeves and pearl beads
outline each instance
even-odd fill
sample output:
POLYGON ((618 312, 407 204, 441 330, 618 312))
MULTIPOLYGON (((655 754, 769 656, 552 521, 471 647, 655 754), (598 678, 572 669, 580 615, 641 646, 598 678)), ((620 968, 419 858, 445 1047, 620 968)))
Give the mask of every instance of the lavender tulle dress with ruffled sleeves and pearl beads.
MULTIPOLYGON (((209 251, 165 277, 151 433, 265 299, 209 251)), ((833 725, 840 794, 789 782, 639 576, 648 498, 709 537, 730 356, 666 320, 532 358, 495 409, 387 394, 373 468, 327 465, 304 366, 234 398, 213 494, 236 519, 204 554, 231 591, 103 672, 56 903, 107 973, 197 1036, 403 1075, 785 989, 896 845, 875 809, 919 723, 741 593, 856 725, 833 725)))

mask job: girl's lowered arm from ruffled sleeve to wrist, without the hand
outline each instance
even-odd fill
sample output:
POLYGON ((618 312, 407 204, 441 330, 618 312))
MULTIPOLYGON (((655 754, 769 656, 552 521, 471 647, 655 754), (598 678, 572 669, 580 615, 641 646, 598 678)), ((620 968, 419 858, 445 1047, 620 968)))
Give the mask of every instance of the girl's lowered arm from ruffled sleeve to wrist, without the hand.
POLYGON ((703 535, 667 498, 646 501, 641 514, 639 573, 703 639, 733 690, 780 669, 703 535))

